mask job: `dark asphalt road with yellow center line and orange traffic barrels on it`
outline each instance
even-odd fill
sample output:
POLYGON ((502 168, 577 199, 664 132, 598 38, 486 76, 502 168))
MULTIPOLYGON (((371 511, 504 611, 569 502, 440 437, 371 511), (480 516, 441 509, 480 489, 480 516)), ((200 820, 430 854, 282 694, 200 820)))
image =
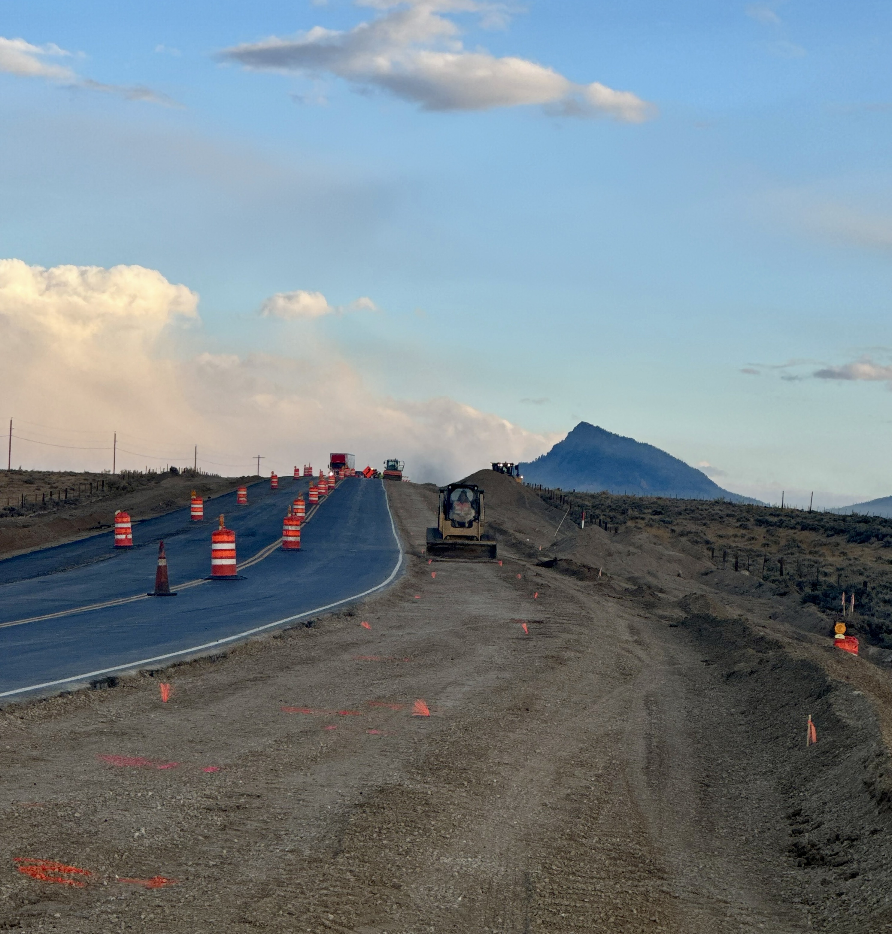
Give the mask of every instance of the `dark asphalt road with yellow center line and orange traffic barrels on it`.
POLYGON ((188 508, 136 523, 132 549, 116 549, 108 531, 0 561, 0 698, 211 652, 392 580, 401 553, 380 480, 342 481, 305 523, 300 551, 271 547, 308 485, 255 484, 248 506, 227 494, 205 502, 203 523, 191 522, 188 508), (210 574, 219 513, 235 531, 243 579, 199 584, 210 574), (176 597, 144 596, 159 539, 176 597))

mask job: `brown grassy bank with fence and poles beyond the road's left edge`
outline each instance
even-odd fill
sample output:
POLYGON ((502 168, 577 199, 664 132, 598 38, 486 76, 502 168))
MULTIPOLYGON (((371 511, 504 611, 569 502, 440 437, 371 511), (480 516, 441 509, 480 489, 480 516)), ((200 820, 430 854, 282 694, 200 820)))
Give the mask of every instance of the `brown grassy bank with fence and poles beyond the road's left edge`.
POLYGON ((115 511, 144 519, 212 498, 256 477, 208 474, 0 473, 0 558, 110 529, 115 511))

